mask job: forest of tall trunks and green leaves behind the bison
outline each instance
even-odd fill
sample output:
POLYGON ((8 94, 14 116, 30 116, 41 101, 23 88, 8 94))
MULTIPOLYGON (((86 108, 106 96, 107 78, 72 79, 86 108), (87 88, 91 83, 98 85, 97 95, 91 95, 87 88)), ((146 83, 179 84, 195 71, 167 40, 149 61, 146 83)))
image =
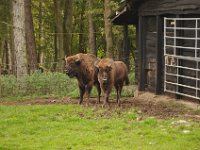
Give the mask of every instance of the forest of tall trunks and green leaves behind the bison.
POLYGON ((124 27, 113 26, 109 19, 121 3, 121 0, 1 0, 0 73, 21 77, 38 68, 62 72, 64 56, 80 52, 99 58, 128 59, 127 65, 132 70, 135 27, 129 26, 130 53, 124 55, 124 27))

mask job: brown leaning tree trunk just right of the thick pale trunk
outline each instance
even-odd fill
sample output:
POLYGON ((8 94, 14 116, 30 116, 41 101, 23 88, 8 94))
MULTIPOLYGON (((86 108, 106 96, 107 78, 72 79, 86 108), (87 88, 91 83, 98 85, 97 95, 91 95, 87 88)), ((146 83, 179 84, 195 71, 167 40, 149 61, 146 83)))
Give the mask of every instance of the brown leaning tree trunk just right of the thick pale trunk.
POLYGON ((25 3, 25 31, 26 31, 26 49, 28 53, 28 64, 30 71, 38 68, 37 54, 35 45, 35 36, 33 28, 33 17, 31 12, 31 0, 24 0, 25 3))

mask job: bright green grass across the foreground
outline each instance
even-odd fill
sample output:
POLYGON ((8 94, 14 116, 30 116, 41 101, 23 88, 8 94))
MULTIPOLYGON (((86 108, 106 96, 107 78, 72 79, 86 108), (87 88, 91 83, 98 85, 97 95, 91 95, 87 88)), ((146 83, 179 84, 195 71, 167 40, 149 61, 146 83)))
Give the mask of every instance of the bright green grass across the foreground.
POLYGON ((146 118, 134 109, 0 106, 0 149, 198 150, 200 125, 146 118))

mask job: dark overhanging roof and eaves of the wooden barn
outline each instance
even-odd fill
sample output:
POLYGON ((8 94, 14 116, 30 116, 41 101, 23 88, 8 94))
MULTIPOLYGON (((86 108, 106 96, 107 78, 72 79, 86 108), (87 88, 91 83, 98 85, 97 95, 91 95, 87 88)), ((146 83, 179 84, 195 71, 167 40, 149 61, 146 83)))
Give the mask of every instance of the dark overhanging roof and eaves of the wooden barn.
POLYGON ((124 0, 110 16, 116 25, 136 24, 138 16, 200 14, 200 0, 124 0))

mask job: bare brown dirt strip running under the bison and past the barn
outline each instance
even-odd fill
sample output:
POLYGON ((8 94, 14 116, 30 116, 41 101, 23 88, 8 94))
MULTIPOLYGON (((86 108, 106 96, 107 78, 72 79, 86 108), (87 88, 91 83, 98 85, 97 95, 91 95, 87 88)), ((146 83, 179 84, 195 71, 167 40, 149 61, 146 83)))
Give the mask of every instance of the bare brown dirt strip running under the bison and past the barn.
MULTIPOLYGON (((0 105, 77 105, 78 99, 40 99, 31 101, 15 101, 15 102, 0 102, 0 105)), ((85 101, 83 106, 86 106, 85 101)), ((101 107, 102 102, 96 105, 96 98, 91 98, 89 107, 101 107)), ((117 103, 115 100, 110 100, 110 109, 115 109, 117 103)), ((197 103, 189 103, 185 101, 177 101, 167 96, 156 96, 151 93, 140 93, 137 97, 129 97, 121 99, 121 109, 135 108, 142 117, 156 117, 159 119, 169 119, 175 117, 183 117, 200 122, 200 105, 197 103)))

